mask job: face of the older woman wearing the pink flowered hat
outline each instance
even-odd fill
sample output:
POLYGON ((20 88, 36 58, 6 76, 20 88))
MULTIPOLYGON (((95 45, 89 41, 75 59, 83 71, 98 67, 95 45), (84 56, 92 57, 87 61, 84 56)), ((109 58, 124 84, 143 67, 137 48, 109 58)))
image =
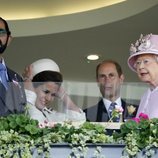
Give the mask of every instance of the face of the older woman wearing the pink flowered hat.
POLYGON ((135 68, 141 81, 149 83, 153 87, 158 86, 158 56, 152 54, 139 55, 135 62, 135 68))

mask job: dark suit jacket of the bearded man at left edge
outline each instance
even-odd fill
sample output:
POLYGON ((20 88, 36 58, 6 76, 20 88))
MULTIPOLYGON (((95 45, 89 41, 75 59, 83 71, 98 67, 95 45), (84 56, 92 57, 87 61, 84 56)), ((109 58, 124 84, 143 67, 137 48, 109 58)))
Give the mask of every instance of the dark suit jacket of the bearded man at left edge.
POLYGON ((22 78, 11 69, 7 68, 8 89, 0 82, 0 116, 24 112, 26 96, 22 78))

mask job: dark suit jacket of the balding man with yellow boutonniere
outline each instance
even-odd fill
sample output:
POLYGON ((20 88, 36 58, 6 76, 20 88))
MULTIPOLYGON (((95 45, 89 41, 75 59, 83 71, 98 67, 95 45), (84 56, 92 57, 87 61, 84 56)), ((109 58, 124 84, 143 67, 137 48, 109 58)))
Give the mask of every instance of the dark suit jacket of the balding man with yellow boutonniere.
MULTIPOLYGON (((122 102, 122 108, 123 108, 123 121, 125 121, 126 119, 130 119, 136 116, 136 112, 138 109, 137 105, 133 105, 134 107, 136 107, 136 110, 134 111, 134 113, 129 114, 127 106, 129 106, 130 104, 127 104, 124 100, 121 99, 122 102)), ((87 121, 91 121, 91 122, 108 122, 109 121, 109 115, 108 112, 105 108, 103 99, 101 99, 98 104, 89 107, 87 109, 84 110, 84 112, 86 113, 86 119, 87 121)))

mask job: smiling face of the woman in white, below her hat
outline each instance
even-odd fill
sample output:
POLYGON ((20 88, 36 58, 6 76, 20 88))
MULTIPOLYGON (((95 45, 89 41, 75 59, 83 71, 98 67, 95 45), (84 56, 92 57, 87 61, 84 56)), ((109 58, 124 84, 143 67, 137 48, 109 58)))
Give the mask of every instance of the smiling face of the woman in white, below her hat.
POLYGON ((56 93, 59 90, 59 85, 54 82, 45 82, 44 84, 35 88, 37 94, 36 107, 42 110, 48 107, 54 100, 56 93))

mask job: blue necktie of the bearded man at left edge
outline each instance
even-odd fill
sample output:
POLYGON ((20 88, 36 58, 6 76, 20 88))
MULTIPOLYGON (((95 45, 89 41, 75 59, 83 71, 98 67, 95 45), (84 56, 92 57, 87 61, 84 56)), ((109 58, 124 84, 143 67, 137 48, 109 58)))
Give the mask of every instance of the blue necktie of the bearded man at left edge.
POLYGON ((5 87, 5 89, 7 89, 8 82, 7 82, 7 78, 6 78, 6 68, 1 63, 0 63, 0 78, 1 78, 1 82, 2 82, 3 86, 5 87))

